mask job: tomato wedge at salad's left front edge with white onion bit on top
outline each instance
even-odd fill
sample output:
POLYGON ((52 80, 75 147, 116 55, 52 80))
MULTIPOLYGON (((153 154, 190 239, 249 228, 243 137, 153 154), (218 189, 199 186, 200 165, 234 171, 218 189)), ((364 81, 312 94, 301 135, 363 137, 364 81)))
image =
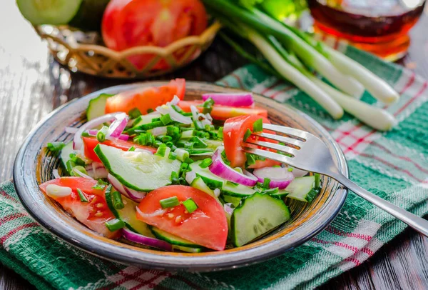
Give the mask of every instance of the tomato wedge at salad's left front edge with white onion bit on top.
POLYGON ((106 221, 114 219, 114 216, 108 209, 104 189, 93 189, 96 182, 96 180, 83 177, 61 177, 40 184, 39 187, 45 194, 49 184, 70 187, 71 194, 69 196, 54 198, 54 200, 78 221, 88 226, 89 229, 108 238, 116 238, 120 233, 118 231, 111 232, 106 228, 106 221), (86 194, 88 202, 81 201, 77 189, 81 189, 86 194))

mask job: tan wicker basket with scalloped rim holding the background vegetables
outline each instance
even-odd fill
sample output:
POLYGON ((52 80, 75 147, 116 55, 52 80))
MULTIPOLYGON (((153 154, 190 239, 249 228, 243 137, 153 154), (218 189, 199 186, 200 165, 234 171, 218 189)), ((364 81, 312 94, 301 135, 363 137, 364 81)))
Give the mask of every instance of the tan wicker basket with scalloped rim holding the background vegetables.
POLYGON ((138 46, 113 51, 103 46, 96 32, 84 33, 69 26, 34 26, 41 39, 47 40, 54 58, 71 71, 121 79, 159 76, 189 64, 208 49, 220 28, 214 22, 203 34, 185 37, 165 47, 138 46), (136 67, 129 60, 136 56, 149 61, 143 67, 136 67))

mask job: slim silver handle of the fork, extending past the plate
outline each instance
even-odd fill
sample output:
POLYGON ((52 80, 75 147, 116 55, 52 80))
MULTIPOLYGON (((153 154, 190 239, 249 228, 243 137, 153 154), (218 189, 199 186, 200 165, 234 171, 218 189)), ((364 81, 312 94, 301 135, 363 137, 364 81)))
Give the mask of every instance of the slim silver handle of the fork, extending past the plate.
POLYGON ((394 204, 391 204, 389 201, 385 201, 384 199, 381 199, 379 196, 372 194, 371 192, 365 189, 362 189, 362 187, 350 181, 350 179, 347 179, 342 174, 334 174, 334 175, 335 176, 332 176, 334 179, 339 181, 341 184, 346 186, 348 189, 353 191, 358 196, 361 196, 363 199, 370 201, 372 204, 379 207, 379 209, 383 209, 384 211, 387 211, 387 213, 391 214, 392 216, 395 216, 397 219, 411 226, 416 231, 419 231, 419 233, 423 234, 424 236, 428 236, 427 220, 422 219, 419 216, 415 216, 409 211, 405 211, 404 209, 398 206, 394 206, 394 204))

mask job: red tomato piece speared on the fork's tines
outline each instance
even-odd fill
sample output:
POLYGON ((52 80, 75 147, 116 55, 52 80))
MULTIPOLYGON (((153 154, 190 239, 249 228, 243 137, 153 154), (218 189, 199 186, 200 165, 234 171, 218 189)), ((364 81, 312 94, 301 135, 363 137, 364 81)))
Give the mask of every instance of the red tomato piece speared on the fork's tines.
MULTIPOLYGON (((225 153, 226 153, 226 156, 228 157, 228 160, 230 161, 230 166, 232 167, 245 166, 245 161, 247 161, 247 158, 245 156, 245 152, 241 147, 243 143, 244 135, 247 129, 250 129, 250 131, 253 131, 254 122, 260 118, 263 119, 263 123, 270 124, 270 121, 264 116, 255 116, 255 115, 237 116, 235 118, 230 118, 225 121, 225 125, 223 128, 223 143, 225 144, 225 153)), ((263 130, 263 132, 275 134, 275 132, 272 132, 270 130, 263 130)), ((249 140, 252 140, 252 139, 278 143, 277 141, 266 139, 260 136, 250 136, 249 140)), ((255 146, 255 145, 254 147, 262 148, 260 146, 255 146)), ((263 164, 271 164, 271 162, 275 162, 275 161, 270 161, 268 163, 267 162, 263 163, 261 161, 258 161, 256 162, 256 164, 254 164, 252 168, 260 168, 261 166, 263 166, 263 164)), ((276 164, 280 164, 280 163, 276 162, 275 164, 272 164, 272 165, 276 165, 276 164)))

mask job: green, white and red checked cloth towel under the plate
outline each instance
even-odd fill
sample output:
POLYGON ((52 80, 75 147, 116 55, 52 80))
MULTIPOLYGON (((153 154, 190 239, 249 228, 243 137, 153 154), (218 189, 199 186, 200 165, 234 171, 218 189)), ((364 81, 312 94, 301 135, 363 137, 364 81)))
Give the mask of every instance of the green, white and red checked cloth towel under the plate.
MULTIPOLYGON (((401 94, 397 104, 388 107, 399 121, 392 131, 374 131, 349 115, 333 121, 308 96, 255 65, 238 69, 218 83, 255 91, 305 111, 340 144, 352 180, 414 214, 427 214, 427 81, 352 47, 339 49, 401 94)), ((384 106, 369 94, 362 99, 384 106)), ((170 273, 103 261, 75 249, 26 214, 10 181, 0 189, 1 263, 39 289, 312 289, 361 264, 404 227, 351 193, 325 231, 282 256, 233 271, 170 273)))

